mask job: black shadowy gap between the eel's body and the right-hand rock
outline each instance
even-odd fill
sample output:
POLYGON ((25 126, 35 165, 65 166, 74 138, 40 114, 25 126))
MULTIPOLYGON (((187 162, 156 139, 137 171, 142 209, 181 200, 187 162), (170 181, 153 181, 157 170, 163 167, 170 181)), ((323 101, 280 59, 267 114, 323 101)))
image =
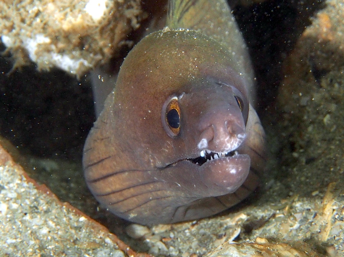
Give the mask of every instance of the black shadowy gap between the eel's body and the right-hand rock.
POLYGON ((273 0, 233 9, 257 76, 258 112, 273 104, 283 60, 323 1, 273 0))

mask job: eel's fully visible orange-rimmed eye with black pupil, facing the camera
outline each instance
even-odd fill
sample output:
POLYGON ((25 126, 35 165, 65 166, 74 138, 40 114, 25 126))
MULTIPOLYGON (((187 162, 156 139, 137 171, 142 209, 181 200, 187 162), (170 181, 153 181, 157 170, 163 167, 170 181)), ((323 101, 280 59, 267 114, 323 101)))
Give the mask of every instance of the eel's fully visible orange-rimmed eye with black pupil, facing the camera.
POLYGON ((162 125, 170 137, 178 136, 180 131, 180 107, 178 97, 172 97, 165 102, 163 109, 162 125))

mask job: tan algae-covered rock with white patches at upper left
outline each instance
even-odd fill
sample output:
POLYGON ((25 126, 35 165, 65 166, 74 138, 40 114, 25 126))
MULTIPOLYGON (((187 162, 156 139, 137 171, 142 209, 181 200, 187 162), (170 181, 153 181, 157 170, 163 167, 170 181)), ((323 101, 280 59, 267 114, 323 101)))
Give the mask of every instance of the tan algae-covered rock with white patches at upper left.
POLYGON ((21 0, 0 2, 0 36, 15 67, 36 63, 81 76, 106 63, 138 28, 138 0, 21 0))

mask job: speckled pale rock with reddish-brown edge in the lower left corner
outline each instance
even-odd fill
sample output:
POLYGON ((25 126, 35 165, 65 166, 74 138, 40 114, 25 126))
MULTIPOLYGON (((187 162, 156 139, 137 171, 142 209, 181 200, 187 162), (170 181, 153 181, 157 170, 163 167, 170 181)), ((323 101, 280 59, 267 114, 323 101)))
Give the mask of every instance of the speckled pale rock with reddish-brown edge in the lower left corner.
POLYGON ((0 174, 0 256, 145 256, 60 202, 1 146, 0 174))

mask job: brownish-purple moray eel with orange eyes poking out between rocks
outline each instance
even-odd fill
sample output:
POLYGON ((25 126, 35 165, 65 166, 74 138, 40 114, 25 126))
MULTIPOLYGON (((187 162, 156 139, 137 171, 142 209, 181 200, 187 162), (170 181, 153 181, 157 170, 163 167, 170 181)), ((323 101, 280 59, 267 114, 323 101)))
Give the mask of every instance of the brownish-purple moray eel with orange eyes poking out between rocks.
POLYGON ((245 199, 264 169, 247 47, 224 0, 171 0, 166 27, 120 67, 83 153, 87 185, 116 215, 152 225, 245 199))

